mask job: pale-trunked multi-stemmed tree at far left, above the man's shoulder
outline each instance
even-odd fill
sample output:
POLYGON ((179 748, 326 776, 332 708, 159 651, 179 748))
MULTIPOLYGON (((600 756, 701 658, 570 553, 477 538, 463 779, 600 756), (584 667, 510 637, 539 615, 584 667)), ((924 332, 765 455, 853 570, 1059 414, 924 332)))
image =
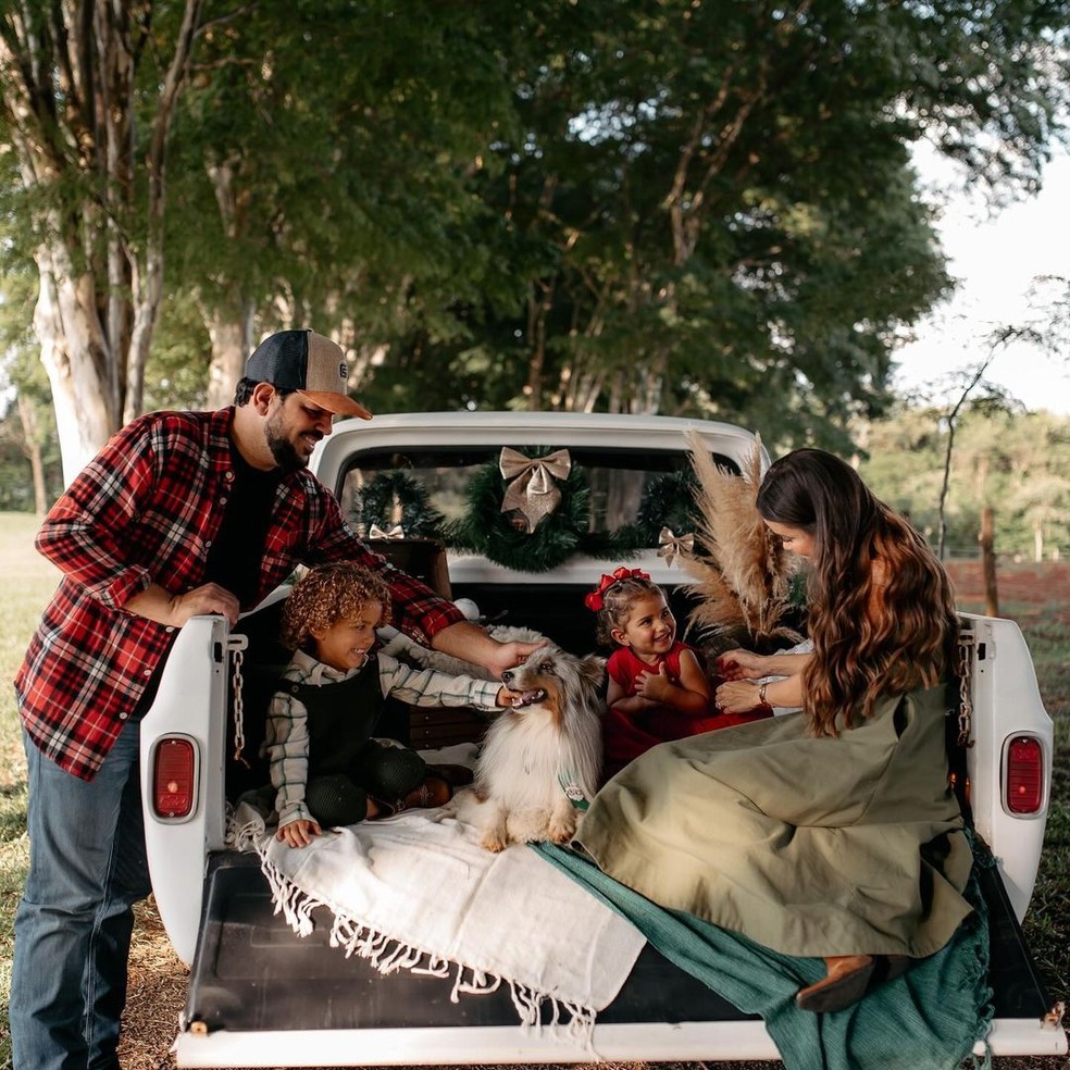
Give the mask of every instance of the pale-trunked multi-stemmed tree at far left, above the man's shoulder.
POLYGON ((5 0, 0 126, 34 222, 34 315, 67 480, 140 412, 166 149, 201 0, 5 0))

